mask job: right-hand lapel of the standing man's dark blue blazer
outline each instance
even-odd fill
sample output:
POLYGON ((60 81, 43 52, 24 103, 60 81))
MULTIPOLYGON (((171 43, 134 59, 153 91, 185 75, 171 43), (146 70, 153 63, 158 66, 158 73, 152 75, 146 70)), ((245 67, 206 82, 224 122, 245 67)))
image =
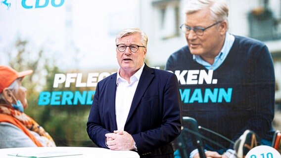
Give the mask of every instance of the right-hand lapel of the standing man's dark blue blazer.
POLYGON ((147 89, 149 83, 151 82, 151 80, 153 78, 154 78, 154 71, 145 64, 143 71, 141 73, 141 78, 140 78, 139 84, 137 86, 126 123, 132 117, 134 111, 136 110, 136 108, 138 107, 138 105, 141 101, 141 98, 142 98, 145 90, 147 89))

